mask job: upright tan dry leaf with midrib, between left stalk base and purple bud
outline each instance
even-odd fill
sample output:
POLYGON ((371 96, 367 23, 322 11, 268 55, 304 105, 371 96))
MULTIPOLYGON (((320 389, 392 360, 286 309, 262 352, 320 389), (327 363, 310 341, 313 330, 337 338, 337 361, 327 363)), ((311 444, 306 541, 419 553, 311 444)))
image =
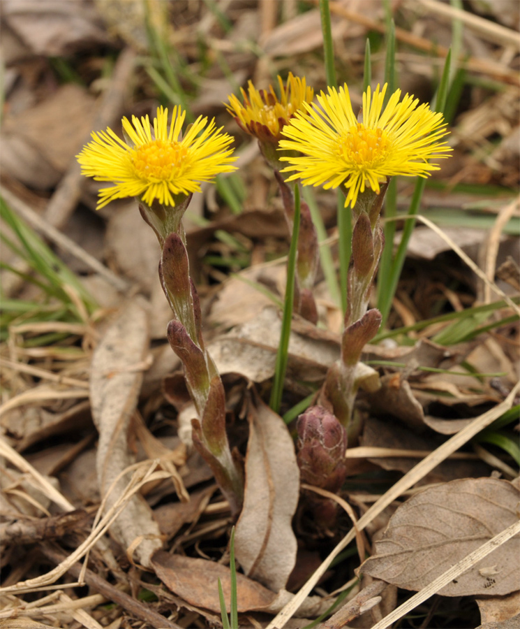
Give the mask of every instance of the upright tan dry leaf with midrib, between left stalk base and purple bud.
POLYGON ((255 400, 248 421, 244 506, 235 532, 235 554, 248 577, 278 592, 296 563, 292 516, 299 498, 299 469, 281 417, 255 400))

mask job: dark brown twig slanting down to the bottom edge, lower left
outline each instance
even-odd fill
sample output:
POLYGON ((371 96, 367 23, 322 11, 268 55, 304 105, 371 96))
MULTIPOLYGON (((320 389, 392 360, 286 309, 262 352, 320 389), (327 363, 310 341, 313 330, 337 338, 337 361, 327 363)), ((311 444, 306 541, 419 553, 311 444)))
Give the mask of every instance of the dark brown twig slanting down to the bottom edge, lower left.
MULTIPOLYGON (((40 550, 47 559, 50 559, 50 561, 56 565, 59 565, 67 558, 66 554, 61 551, 61 549, 49 542, 41 544, 40 550)), ((80 573, 82 572, 82 565, 80 563, 75 563, 69 567, 68 572, 77 579, 80 577, 80 573)), ((135 598, 132 598, 125 592, 118 590, 116 587, 96 574, 96 572, 92 572, 92 570, 87 569, 84 570, 82 574, 83 580, 88 586, 93 588, 96 592, 103 594, 105 598, 112 600, 117 605, 123 607, 129 614, 132 614, 144 621, 146 626, 154 627, 155 629, 181 629, 179 625, 168 620, 165 616, 159 614, 154 609, 151 609, 147 605, 144 605, 144 603, 135 600, 135 598)))

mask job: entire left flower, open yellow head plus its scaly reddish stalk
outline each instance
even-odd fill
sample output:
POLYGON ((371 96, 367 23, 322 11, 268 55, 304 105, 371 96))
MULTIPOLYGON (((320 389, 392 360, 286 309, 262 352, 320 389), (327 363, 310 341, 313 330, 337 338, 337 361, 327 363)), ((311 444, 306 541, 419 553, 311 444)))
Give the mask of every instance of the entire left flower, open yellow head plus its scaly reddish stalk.
POLYGON ((107 129, 77 156, 84 175, 112 182, 101 189, 98 208, 113 199, 133 196, 161 245, 159 275, 172 308, 168 341, 184 365, 186 385, 198 414, 192 420, 193 443, 205 458, 228 498, 232 512, 242 505, 242 468, 230 451, 225 433, 225 393, 218 370, 202 338, 200 302, 189 272, 182 217, 200 182, 211 181, 232 166, 232 138, 216 129, 214 120, 199 117, 184 137, 185 113, 158 108, 149 117, 123 119, 125 140, 107 129))

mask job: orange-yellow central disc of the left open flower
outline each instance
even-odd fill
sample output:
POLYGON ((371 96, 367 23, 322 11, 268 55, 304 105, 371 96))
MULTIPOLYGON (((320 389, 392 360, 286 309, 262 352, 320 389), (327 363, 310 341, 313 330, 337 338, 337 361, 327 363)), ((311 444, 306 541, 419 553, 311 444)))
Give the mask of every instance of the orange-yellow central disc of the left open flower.
POLYGON ((141 179, 170 180, 186 152, 186 147, 177 142, 152 140, 135 150, 132 157, 135 174, 141 179))

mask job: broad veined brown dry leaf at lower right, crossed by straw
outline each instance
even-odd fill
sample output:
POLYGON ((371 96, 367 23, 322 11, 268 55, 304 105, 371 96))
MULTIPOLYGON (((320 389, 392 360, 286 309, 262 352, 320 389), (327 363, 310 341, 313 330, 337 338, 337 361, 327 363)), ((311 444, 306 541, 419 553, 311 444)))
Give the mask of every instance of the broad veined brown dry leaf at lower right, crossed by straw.
MULTIPOLYGON (((363 574, 420 590, 515 523, 520 492, 493 478, 459 479, 425 489, 399 507, 363 574)), ((518 589, 520 535, 439 591, 444 596, 506 595, 518 589)))

